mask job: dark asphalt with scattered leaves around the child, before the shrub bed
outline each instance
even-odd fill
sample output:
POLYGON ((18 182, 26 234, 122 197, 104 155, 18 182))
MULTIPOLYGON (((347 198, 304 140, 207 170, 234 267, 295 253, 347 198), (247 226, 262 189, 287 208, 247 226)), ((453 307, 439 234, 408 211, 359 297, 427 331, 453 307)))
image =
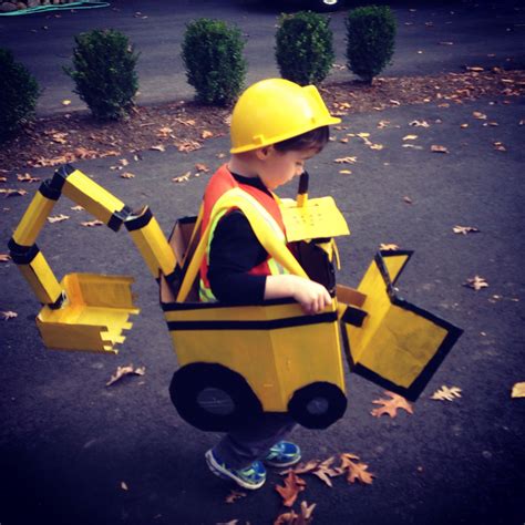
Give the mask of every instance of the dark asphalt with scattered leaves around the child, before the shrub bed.
MULTIPOLYGON (((524 119, 524 101, 516 97, 349 115, 310 161, 310 194, 334 196, 351 229, 339 240, 338 281, 357 287, 381 243, 413 249, 400 295, 464 329, 412 415, 372 416, 372 401, 383 390, 347 368, 344 418, 327 431, 296 431, 305 460, 350 452, 375 475, 371 485, 338 477, 332 488, 305 476, 299 502, 317 504, 313 523, 525 522, 525 402, 511 398, 513 384, 525 381, 524 119), (428 127, 410 125, 414 121, 428 127), (358 133, 383 147, 371 148, 358 133), (432 145, 447 153, 434 153, 432 145), (334 162, 347 156, 356 162, 334 162), (455 225, 480 233, 454 234, 455 225), (476 275, 487 288, 463 286, 476 275), (430 399, 443 384, 459 387, 462 397, 430 399)), ((133 179, 111 169, 115 157, 75 166, 133 208, 148 204, 168 234, 177 217, 196 212, 208 176, 172 178, 197 162, 218 166, 227 148, 219 137, 188 154, 173 147, 144 152, 141 161, 122 155, 133 179)), ((43 179, 53 171, 29 173, 43 179)), ((29 194, 2 200, 4 245, 38 187, 9 177, 9 187, 29 194)), ((81 226, 92 217, 72 206, 63 197, 53 215, 70 218, 47 224, 38 238, 53 270, 59 278, 72 271, 131 275, 142 311, 117 356, 45 350, 34 323, 37 299, 12 262, 0 264, 0 311, 18 313, 0 321, 0 523, 274 523, 286 511, 274 488, 281 477, 270 472, 260 491, 226 503, 233 487, 204 461, 219 434, 189 426, 171 404, 176 358, 156 282, 130 237, 81 226), (145 374, 105 385, 117 366, 130 363, 145 367, 145 374)))

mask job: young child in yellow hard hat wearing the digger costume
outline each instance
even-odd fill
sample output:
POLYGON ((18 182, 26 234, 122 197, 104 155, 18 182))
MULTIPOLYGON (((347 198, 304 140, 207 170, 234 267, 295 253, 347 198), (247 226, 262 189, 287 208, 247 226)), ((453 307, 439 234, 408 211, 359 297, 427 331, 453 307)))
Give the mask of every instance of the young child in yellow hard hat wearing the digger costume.
MULTIPOLYGON (((236 187, 255 198, 261 215, 269 214, 268 220, 286 235, 272 191, 301 175, 306 162, 327 144, 328 126, 339 122, 313 85, 268 79, 248 87, 234 107, 229 162, 215 173, 204 195, 202 230, 217 199, 236 187)), ((216 220, 209 239, 200 268, 200 300, 256 305, 291 297, 306 313, 320 312, 331 302, 322 285, 286 272, 239 209, 216 220)), ((244 488, 259 488, 266 481, 262 463, 285 467, 300 461, 299 446, 284 441, 294 426, 286 413, 265 413, 207 451, 207 464, 244 488)))

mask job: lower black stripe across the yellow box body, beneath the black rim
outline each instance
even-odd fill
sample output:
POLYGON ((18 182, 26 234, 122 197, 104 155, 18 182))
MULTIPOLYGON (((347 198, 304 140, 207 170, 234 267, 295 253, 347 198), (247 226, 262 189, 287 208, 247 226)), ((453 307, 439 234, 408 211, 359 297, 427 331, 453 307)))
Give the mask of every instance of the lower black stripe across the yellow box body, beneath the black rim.
POLYGON ((278 328, 319 325, 337 321, 337 312, 318 313, 317 316, 290 317, 264 321, 167 321, 169 331, 176 330, 275 330, 278 328))

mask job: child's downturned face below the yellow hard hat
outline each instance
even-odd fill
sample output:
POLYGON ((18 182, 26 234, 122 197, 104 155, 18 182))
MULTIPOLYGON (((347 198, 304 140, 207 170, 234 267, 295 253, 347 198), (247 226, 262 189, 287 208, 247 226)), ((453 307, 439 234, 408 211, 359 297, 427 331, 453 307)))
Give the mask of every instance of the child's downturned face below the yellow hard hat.
POLYGON ((268 189, 276 189, 300 175, 305 171, 306 161, 317 153, 317 150, 281 153, 269 146, 260 158, 258 175, 268 189))

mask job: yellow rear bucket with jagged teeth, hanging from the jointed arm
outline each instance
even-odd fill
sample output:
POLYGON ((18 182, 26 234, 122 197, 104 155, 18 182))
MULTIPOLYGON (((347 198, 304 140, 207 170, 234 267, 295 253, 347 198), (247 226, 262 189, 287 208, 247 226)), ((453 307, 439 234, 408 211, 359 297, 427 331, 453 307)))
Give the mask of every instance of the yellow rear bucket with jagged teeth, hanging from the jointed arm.
POLYGON ((58 350, 87 350, 116 353, 125 340, 133 303, 132 277, 69 274, 62 282, 68 298, 60 308, 44 306, 37 326, 44 344, 58 350))

